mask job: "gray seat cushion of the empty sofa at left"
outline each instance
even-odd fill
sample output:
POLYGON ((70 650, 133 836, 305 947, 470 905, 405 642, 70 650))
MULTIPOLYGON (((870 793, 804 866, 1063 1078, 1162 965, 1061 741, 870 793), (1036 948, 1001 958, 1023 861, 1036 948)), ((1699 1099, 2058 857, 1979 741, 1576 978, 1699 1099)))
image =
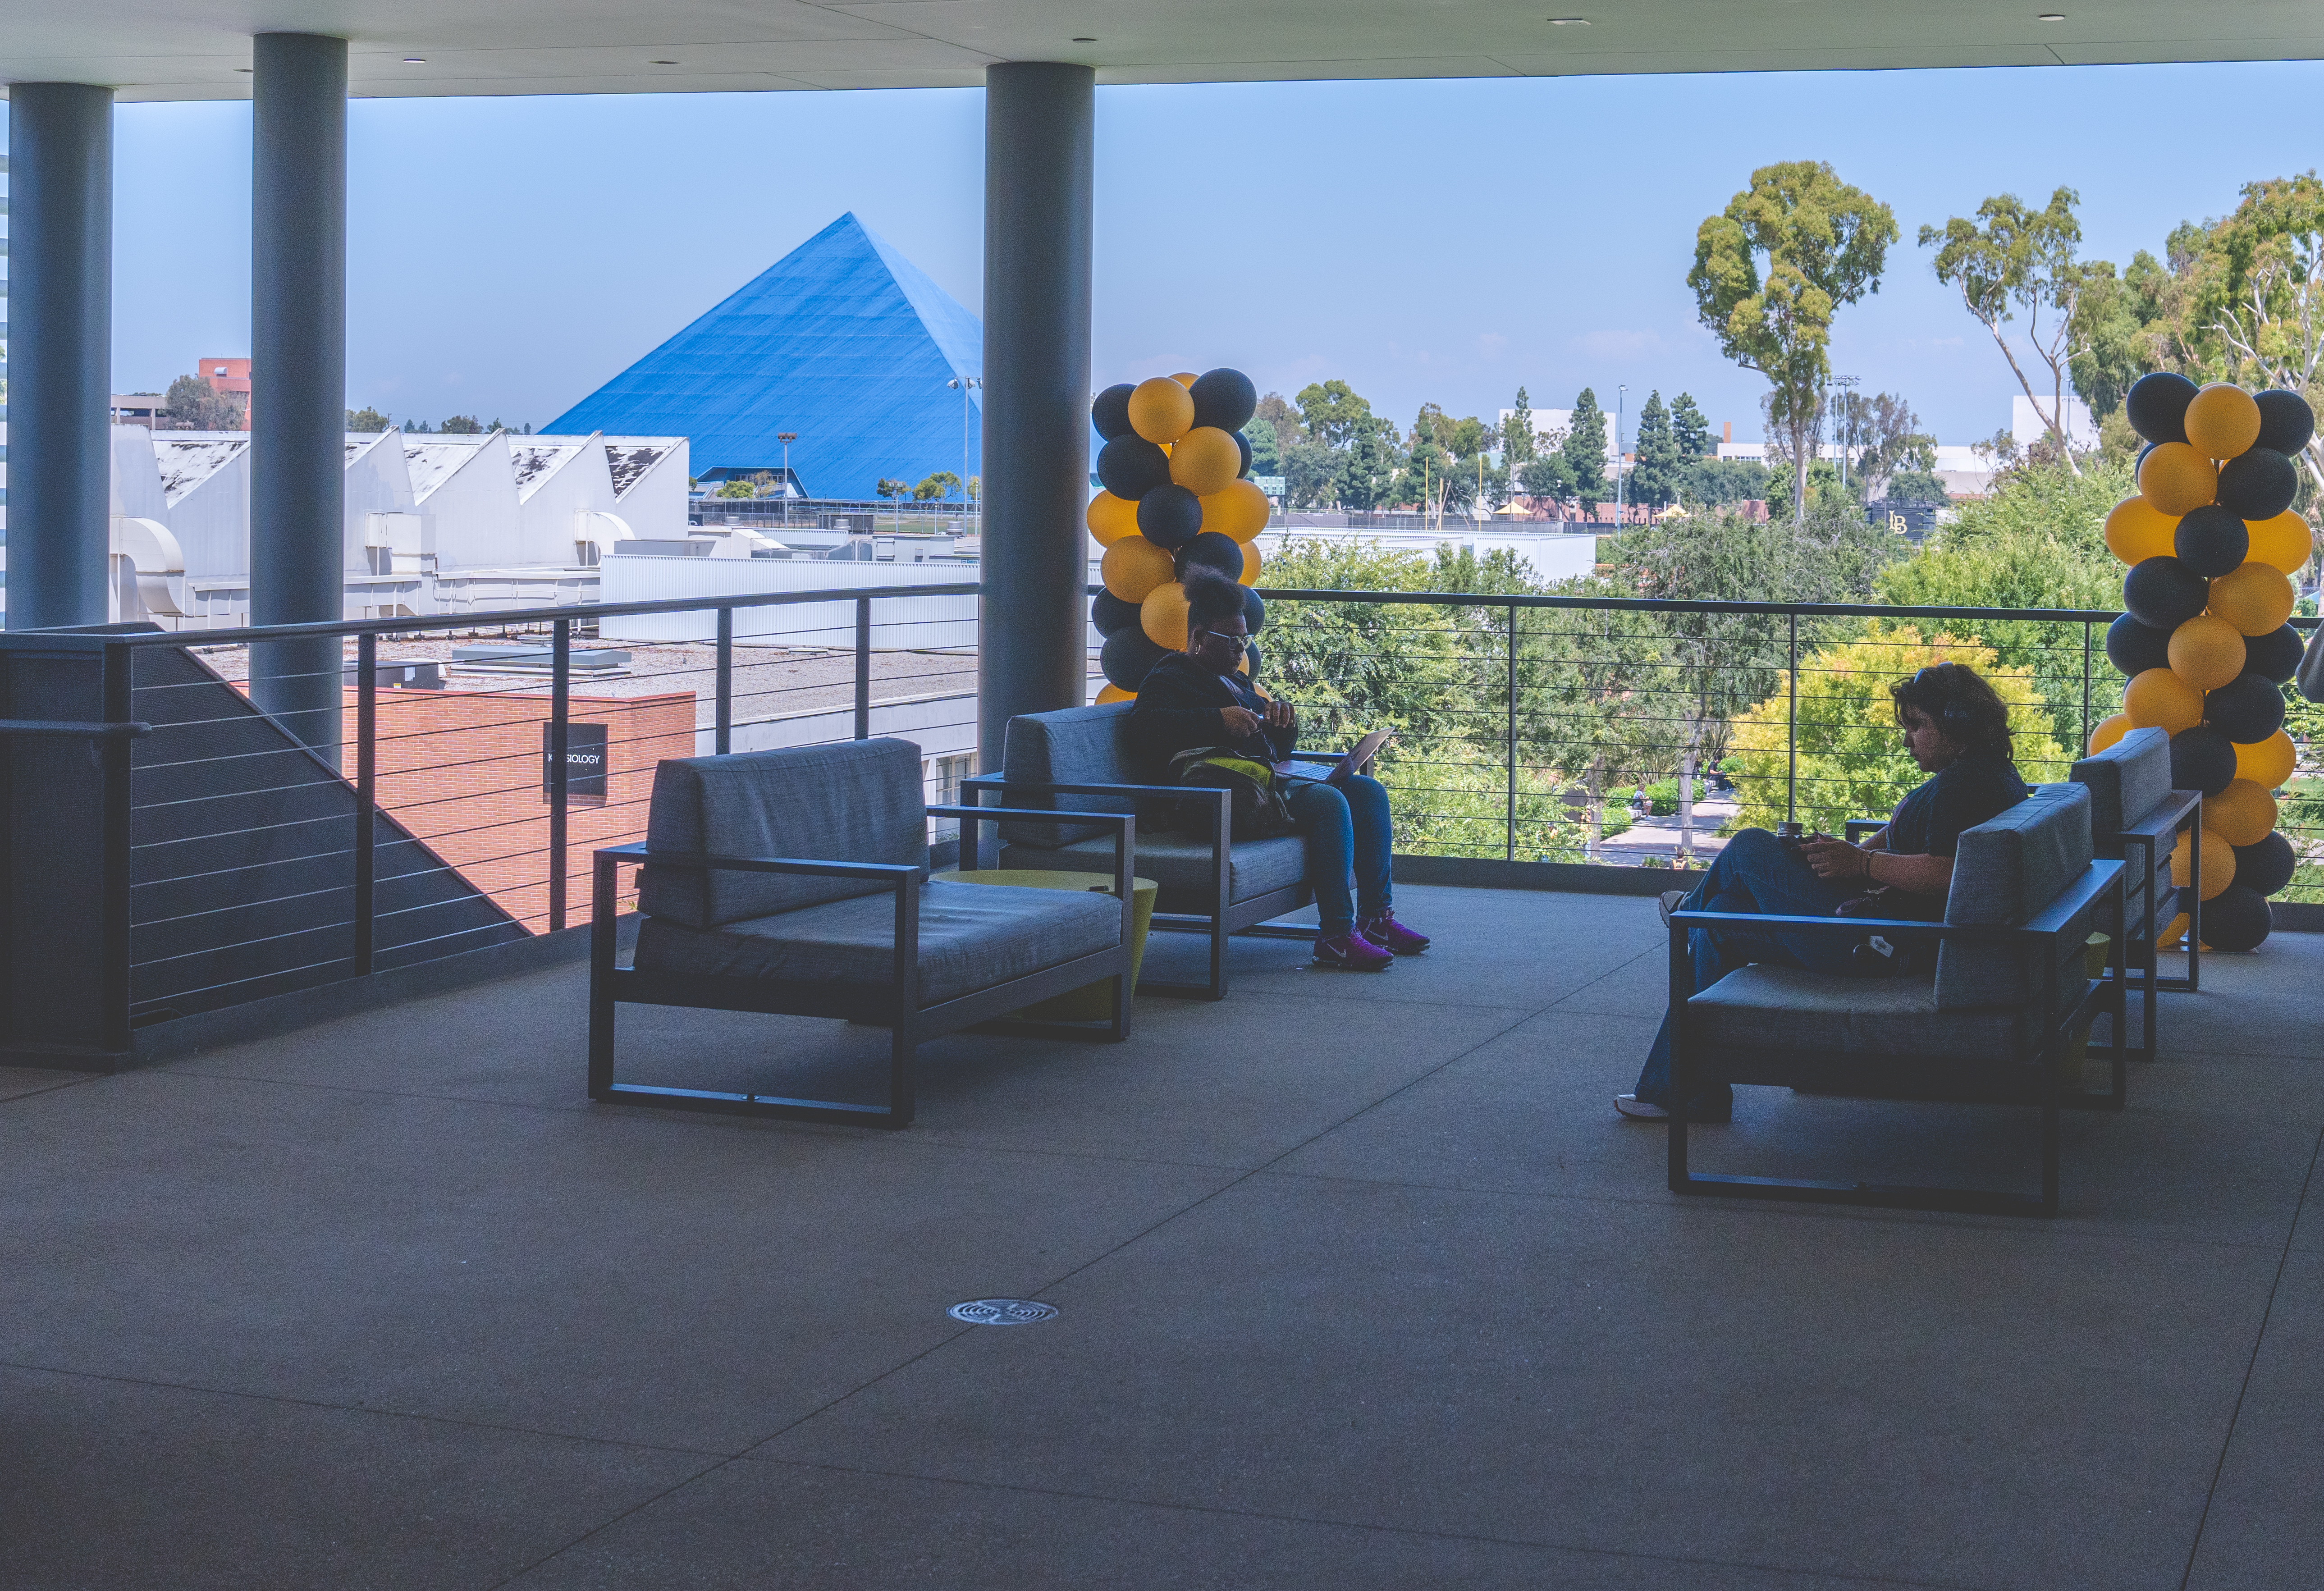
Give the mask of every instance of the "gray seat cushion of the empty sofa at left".
MULTIPOLYGON (((1118 943, 1122 908, 1111 894, 932 878, 920 887, 920 1003, 941 1006, 1118 943)), ((895 897, 823 901, 706 931, 646 917, 637 927, 637 969, 885 987, 895 897)))

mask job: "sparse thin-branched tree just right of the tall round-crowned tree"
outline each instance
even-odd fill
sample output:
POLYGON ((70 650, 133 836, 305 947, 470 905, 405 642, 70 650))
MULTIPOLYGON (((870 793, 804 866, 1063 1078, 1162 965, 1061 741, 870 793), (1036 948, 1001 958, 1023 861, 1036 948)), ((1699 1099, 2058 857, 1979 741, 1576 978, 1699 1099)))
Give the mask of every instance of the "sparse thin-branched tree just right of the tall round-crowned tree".
POLYGON ((1978 221, 1954 216, 1943 228, 1920 230, 1920 246, 1936 246, 1936 279, 1959 290, 1968 314, 1992 332, 1994 346, 2001 348, 2068 469, 2075 469, 2075 462, 2066 437, 2066 388, 2075 304, 2085 279, 2082 265, 2073 258, 2082 244, 2082 223, 2073 214, 2078 200, 2073 188, 2059 188, 2050 195, 2047 209, 2031 209, 2015 193, 1996 193, 1978 204, 1978 221), (2024 344, 2047 372, 2043 381, 2047 399, 2001 330, 2020 311, 2027 318, 2024 344), (2043 327, 2045 311, 2047 327, 2043 327))

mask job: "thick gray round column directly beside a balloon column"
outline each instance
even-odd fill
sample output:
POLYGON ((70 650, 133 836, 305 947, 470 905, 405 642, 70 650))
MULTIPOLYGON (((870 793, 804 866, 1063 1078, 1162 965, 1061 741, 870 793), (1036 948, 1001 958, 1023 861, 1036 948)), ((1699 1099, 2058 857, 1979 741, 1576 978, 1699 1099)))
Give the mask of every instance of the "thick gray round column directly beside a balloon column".
POLYGON ((1090 193, 1097 72, 985 67, 985 532, 978 764, 1088 674, 1090 193))

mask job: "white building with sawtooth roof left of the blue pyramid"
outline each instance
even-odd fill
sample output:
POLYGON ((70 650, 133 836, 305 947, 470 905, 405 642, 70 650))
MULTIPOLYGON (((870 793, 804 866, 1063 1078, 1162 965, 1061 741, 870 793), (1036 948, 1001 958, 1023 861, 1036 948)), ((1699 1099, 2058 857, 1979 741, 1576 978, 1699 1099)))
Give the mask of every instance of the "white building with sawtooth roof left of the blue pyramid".
MULTIPOLYGON (((346 618, 588 602, 625 541, 711 557, 772 546, 686 525, 686 437, 346 439, 346 618), (690 541, 700 541, 695 548, 690 541)), ((246 625, 249 432, 112 432, 114 618, 246 625)))

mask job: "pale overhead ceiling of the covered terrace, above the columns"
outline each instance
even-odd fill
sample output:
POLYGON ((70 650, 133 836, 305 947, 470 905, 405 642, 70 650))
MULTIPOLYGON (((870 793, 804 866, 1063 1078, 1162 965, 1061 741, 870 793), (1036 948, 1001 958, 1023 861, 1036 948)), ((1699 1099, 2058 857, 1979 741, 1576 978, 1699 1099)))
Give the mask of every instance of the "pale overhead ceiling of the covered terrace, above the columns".
POLYGON ((2324 56, 2315 0, 0 0, 0 81, 237 100, 279 30, 351 39, 353 93, 386 98, 960 88, 992 60, 1213 84, 2324 56))

